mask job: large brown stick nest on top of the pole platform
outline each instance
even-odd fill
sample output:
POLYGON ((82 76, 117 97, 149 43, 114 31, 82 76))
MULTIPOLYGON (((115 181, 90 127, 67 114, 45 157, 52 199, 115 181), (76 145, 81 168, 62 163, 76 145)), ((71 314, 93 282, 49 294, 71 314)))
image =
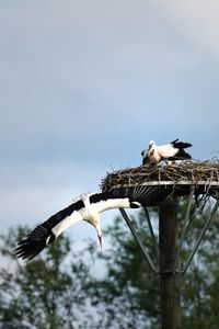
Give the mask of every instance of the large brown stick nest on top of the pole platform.
POLYGON ((191 186, 195 188, 197 195, 215 197, 219 192, 219 160, 127 168, 107 173, 101 183, 103 192, 138 186, 152 189, 151 197, 146 201, 148 204, 158 204, 173 191, 177 195, 188 195, 191 186))

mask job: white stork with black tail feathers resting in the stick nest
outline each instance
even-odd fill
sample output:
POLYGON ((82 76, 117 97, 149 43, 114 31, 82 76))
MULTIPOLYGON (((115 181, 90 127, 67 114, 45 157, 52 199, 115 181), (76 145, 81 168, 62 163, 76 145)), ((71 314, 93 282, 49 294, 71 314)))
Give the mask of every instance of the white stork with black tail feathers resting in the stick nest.
POLYGON ((178 141, 175 139, 170 144, 157 146, 153 140, 149 141, 148 149, 141 152, 142 164, 153 162, 158 164, 161 161, 175 161, 191 159, 191 155, 185 152, 185 148, 191 147, 192 144, 178 141))

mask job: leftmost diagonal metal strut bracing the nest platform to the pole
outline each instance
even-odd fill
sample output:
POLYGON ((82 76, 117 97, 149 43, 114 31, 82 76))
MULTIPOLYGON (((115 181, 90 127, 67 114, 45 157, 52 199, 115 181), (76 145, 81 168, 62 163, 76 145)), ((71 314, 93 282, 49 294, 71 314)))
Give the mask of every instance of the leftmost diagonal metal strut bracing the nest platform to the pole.
POLYGON ((136 239, 136 242, 138 243, 139 248, 141 249, 142 253, 143 253, 143 257, 145 257, 145 260, 147 261, 147 263, 149 264, 149 266, 151 268, 151 270, 154 272, 154 273, 159 273, 158 269, 155 268, 150 254, 148 253, 148 251, 146 250, 139 235, 137 234, 131 220, 129 219, 128 215, 126 214, 125 209, 124 208, 119 208, 124 219, 126 220, 126 224, 128 225, 134 238, 136 239))

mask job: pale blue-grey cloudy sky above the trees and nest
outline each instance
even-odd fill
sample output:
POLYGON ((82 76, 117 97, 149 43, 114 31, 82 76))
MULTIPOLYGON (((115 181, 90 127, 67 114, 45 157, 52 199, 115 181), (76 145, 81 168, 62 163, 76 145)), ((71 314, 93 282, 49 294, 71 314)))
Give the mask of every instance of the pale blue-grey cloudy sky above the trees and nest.
MULTIPOLYGON (((218 13, 216 0, 0 0, 1 231, 97 192, 150 139, 219 156, 218 13)), ((72 234, 95 239, 84 226, 72 234)))

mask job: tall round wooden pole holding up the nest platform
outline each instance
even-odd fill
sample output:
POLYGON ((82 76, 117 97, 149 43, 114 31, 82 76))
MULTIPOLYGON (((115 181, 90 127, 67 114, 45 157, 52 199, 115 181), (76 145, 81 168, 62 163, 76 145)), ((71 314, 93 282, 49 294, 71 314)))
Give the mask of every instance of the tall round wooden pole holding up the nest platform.
POLYGON ((159 209, 161 328, 181 328, 180 274, 176 273, 177 198, 165 200, 159 209))

